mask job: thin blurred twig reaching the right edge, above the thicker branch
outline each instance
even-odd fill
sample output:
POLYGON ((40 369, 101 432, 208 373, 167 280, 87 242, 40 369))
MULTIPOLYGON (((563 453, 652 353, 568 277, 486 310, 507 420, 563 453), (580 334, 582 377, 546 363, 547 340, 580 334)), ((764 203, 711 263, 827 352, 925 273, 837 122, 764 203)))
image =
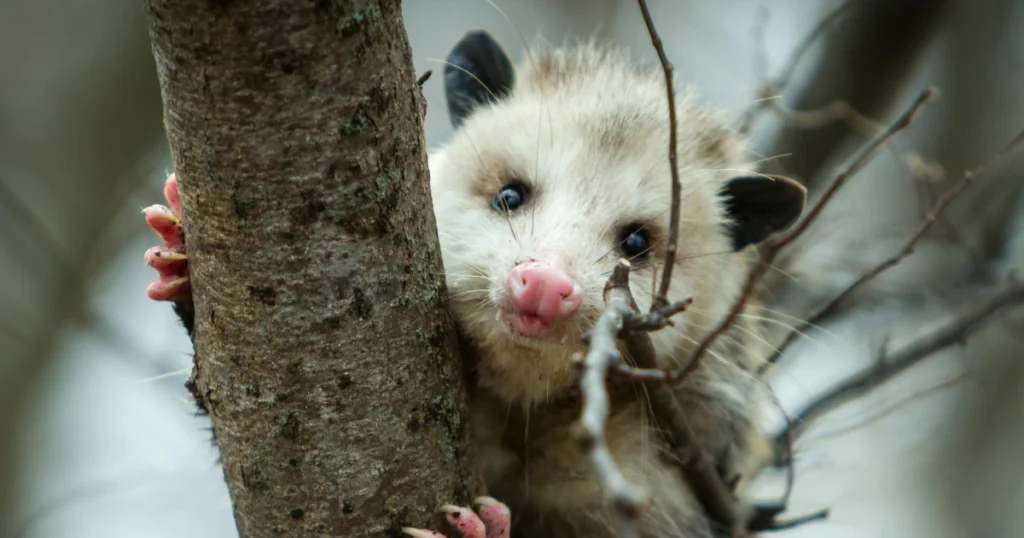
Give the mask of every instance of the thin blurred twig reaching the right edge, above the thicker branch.
POLYGON ((938 222, 939 217, 942 215, 942 212, 946 210, 946 208, 953 202, 953 200, 955 200, 961 193, 963 193, 968 187, 970 187, 971 182, 976 177, 984 173, 985 170, 993 162, 999 160, 1004 156, 1015 151, 1022 141, 1024 141, 1024 130, 1019 132, 1017 136, 1015 136, 1007 144, 1005 144, 997 152, 995 152, 995 154, 993 154, 984 163, 979 164, 969 170, 966 170, 964 172, 964 175, 962 175, 959 179, 957 179, 953 184, 949 187, 948 190, 946 190, 945 194, 942 195, 942 198, 940 198, 938 202, 936 202, 935 207, 932 208, 929 214, 918 226, 918 230, 909 237, 909 239, 906 240, 905 243, 903 243, 903 246, 900 247, 899 250, 897 250, 892 256, 889 256, 888 258, 882 260, 882 262, 880 262, 879 264, 874 265, 866 273, 861 275, 852 284, 847 286, 842 292, 840 292, 838 295, 828 300, 828 302, 826 302, 823 306, 814 312, 814 314, 812 314, 805 322, 801 323, 798 327, 796 327, 793 331, 791 331, 790 334, 786 335, 782 343, 778 345, 776 350, 771 355, 771 357, 768 358, 768 363, 766 367, 768 365, 775 364, 776 362, 778 362, 778 360, 782 357, 782 354, 785 353, 785 349, 787 349, 796 341, 797 337, 801 333, 803 333, 812 325, 820 322, 827 316, 835 314, 839 305, 842 304, 843 301, 846 300, 849 296, 851 296, 854 292, 864 287, 864 285, 867 284, 868 282, 878 278, 879 275, 896 266, 904 258, 912 254, 914 247, 918 245, 921 239, 925 237, 925 234, 927 234, 928 231, 931 230, 931 227, 935 225, 936 222, 938 222))

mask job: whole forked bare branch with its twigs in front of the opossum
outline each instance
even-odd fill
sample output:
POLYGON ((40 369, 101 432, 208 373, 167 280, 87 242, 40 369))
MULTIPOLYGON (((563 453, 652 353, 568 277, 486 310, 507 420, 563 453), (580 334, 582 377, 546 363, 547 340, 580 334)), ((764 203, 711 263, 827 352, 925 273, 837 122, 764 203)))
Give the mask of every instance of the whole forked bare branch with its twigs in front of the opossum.
POLYGON ((646 317, 639 316, 639 313, 635 312, 636 303, 629 292, 628 279, 630 265, 628 261, 622 260, 608 280, 605 288, 605 312, 594 329, 588 333, 590 351, 587 358, 581 361, 583 364, 581 387, 584 392, 584 407, 577 426, 577 439, 581 447, 590 455, 605 494, 614 506, 616 524, 621 533, 625 533, 626 536, 635 535, 636 529, 632 521, 638 514, 642 497, 637 493, 635 487, 629 485, 622 477, 614 462, 611 460, 610 453, 604 443, 603 424, 607 419, 609 407, 605 377, 608 371, 616 371, 643 380, 645 384, 648 384, 651 395, 651 407, 658 417, 658 422, 668 425, 668 427, 664 428, 663 436, 672 448, 673 455, 676 456, 677 463, 683 470, 683 474, 693 490, 695 497, 708 512, 711 521, 723 528, 736 531, 743 525, 746 515, 742 512, 739 503, 732 496, 732 493, 726 487, 722 477, 718 474, 717 469, 707 454, 703 454, 702 451, 696 448, 693 443, 692 431, 690 431, 688 425, 685 423, 684 415, 671 394, 671 386, 665 381, 671 380, 677 382, 696 369, 703 353, 738 317, 751 296, 757 281, 764 272, 764 267, 771 263, 775 253, 794 241, 810 225, 836 192, 839 191, 850 176, 866 164, 879 148, 909 125, 919 109, 933 97, 935 90, 928 88, 923 91, 903 115, 897 118, 888 129, 872 140, 845 170, 840 172, 818 204, 814 206, 807 214, 807 217, 791 234, 776 236, 769 241, 768 248, 765 250, 766 253, 763 256, 763 262, 756 265, 755 270, 752 271, 744 283, 739 299, 732 311, 730 311, 726 320, 719 324, 699 343, 687 366, 681 372, 673 372, 667 375, 655 371, 656 363, 654 362, 653 346, 650 343, 649 336, 642 331, 663 328, 666 324, 671 323, 669 318, 672 314, 681 312, 688 303, 687 301, 683 301, 673 305, 669 304, 667 298, 672 278, 672 265, 675 262, 675 249, 678 239, 676 229, 678 227, 679 191, 681 189, 676 163, 677 120, 672 85, 672 65, 665 55, 660 38, 654 29, 646 2, 638 0, 637 3, 640 6, 644 23, 650 34, 651 43, 658 54, 666 75, 667 99, 669 101, 670 126, 672 129, 672 143, 669 149, 673 189, 672 214, 670 216, 670 245, 667 249, 666 267, 662 285, 651 304, 651 311, 646 317), (639 368, 631 368, 623 363, 622 356, 615 347, 617 338, 626 340, 627 348, 639 368))

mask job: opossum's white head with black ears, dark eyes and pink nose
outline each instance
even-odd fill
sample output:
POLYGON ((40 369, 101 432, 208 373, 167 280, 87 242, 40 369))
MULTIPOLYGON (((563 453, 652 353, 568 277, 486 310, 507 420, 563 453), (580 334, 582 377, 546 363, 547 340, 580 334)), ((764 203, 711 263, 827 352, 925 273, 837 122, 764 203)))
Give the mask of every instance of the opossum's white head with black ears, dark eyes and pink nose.
MULTIPOLYGON (((621 258, 650 306, 672 204, 664 72, 582 44, 515 69, 483 32, 453 49, 444 83, 456 131, 430 156, 453 311, 478 349, 479 382, 529 406, 572 383, 571 356, 604 306, 621 258)), ((681 217, 670 300, 690 312, 652 335, 659 360, 724 315, 744 247, 790 225, 805 192, 760 176, 741 142, 688 91, 675 96, 681 217)))

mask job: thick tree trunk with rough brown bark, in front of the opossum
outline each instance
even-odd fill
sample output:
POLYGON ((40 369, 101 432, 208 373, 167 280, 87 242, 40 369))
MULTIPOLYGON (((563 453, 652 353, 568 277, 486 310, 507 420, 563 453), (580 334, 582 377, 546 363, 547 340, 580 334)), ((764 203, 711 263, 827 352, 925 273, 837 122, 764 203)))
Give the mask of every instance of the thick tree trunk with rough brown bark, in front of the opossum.
POLYGON ((146 6, 240 534, 436 525, 480 483, 399 2, 146 6))

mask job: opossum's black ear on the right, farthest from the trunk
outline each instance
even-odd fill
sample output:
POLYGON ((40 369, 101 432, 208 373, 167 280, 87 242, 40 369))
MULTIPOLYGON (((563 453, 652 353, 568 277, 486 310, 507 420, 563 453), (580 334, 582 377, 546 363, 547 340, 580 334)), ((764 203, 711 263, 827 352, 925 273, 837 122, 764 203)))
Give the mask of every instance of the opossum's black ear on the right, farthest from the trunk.
POLYGON ((784 177, 734 177, 725 183, 722 195, 732 219, 729 233, 735 250, 788 227, 807 203, 807 190, 784 177))

